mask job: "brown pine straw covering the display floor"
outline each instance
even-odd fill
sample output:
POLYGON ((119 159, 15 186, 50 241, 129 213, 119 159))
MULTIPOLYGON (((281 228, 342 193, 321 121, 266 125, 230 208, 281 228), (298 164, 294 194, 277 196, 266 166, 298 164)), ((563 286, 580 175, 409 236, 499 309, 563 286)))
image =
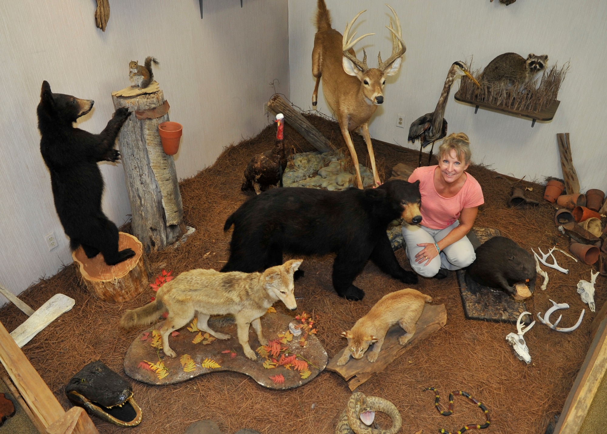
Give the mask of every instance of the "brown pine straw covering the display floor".
MULTIPOLYGON (((310 117, 310 120, 334 143, 344 145, 336 123, 320 117, 310 117)), ((181 182, 185 223, 194 226, 196 232, 178 249, 149 255, 155 273, 163 268, 172 269, 177 275, 197 267, 222 267, 222 261, 228 258, 231 237, 231 231, 222 232, 223 223, 252 196, 240 191, 242 173, 253 154, 273 146, 274 129, 268 126, 253 139, 228 146, 214 165, 181 182)), ((364 162, 367 153, 362 137, 355 136, 354 140, 364 162)), ((285 142, 290 152, 312 150, 288 125, 285 142)), ((416 153, 381 143, 376 143, 375 153, 387 177, 399 162, 417 164, 416 153)), ((541 199, 543 187, 520 182, 533 188, 526 194, 538 199, 540 205, 530 210, 513 210, 506 207, 512 181, 486 167, 470 166, 469 172, 483 187, 486 201, 480 207, 476 226, 498 228, 526 249, 540 246, 545 252, 555 243, 567 249, 568 239, 557 232, 553 222, 554 207, 541 199)), ((409 269, 402 249, 396 256, 409 269)), ((468 391, 486 404, 492 419, 487 434, 543 433, 549 419, 561 411, 586 356, 589 326, 595 315, 575 292, 578 280, 589 280, 590 267, 574 263, 560 253, 556 256, 561 265, 569 268, 569 274, 549 269, 550 283, 545 292, 539 289, 541 277, 538 277, 538 289, 527 306, 535 314, 551 306, 549 298, 569 303, 571 309, 560 311, 563 326, 575 323, 582 308, 586 308, 586 316, 580 328, 572 333, 552 331, 538 322, 525 335, 533 359, 530 365, 517 360, 504 340, 506 334, 515 331, 513 325, 464 318, 455 273, 451 273, 444 280, 420 278, 415 286, 432 295, 435 304, 447 306, 447 325, 361 385, 359 390, 392 401, 402 415, 402 433, 421 429, 432 433, 441 427, 456 431, 466 423, 483 423, 484 417, 478 408, 457 397, 453 416, 440 416, 433 405, 434 394, 423 391, 430 386, 438 388, 443 406, 452 390, 468 391)), ((368 263, 354 282, 367 292, 364 300, 345 301, 337 297, 331 286, 331 265, 330 255, 305 258, 302 266, 305 277, 296 283, 296 295, 303 297, 297 311, 313 311, 317 315, 317 336, 330 357, 345 345, 340 336, 342 331, 350 328, 383 295, 404 287, 368 263)), ((603 286, 604 279, 599 277, 597 311, 606 298, 603 286)), ((70 265, 35 284, 20 297, 32 308, 38 308, 56 292, 75 298, 75 307, 40 332, 23 350, 59 401, 69 408, 63 387, 86 363, 101 359, 124 375, 124 353, 140 330, 125 332, 118 321, 124 309, 147 303, 154 292, 148 289, 123 305, 98 301, 78 284, 70 265)), ((276 308, 287 312, 282 304, 276 308)), ((0 310, 0 320, 11 331, 25 320, 25 315, 15 306, 7 306, 0 310)), ((236 347, 242 354, 237 342, 236 347)), ((330 372, 321 373, 310 384, 289 391, 268 390, 236 373, 206 374, 165 387, 131 383, 135 399, 143 409, 143 422, 138 427, 125 429, 93 418, 101 433, 181 434, 192 421, 207 418, 217 421, 226 434, 243 427, 262 433, 333 433, 351 393, 346 382, 330 372)))

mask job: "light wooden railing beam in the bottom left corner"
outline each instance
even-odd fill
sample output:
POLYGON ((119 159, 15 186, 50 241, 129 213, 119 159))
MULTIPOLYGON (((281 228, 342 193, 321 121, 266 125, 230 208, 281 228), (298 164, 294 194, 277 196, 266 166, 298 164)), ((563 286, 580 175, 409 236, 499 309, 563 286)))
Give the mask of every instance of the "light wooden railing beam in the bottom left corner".
MULTIPOLYGON (((42 433, 47 434, 49 427, 61 426, 63 422, 58 421, 72 419, 73 415, 78 413, 78 423, 71 426, 68 424, 66 430, 61 434, 99 434, 86 413, 72 412, 66 416, 67 413, 63 410, 55 395, 33 368, 32 363, 27 360, 13 338, 10 337, 2 323, 0 323, 0 362, 15 383, 27 407, 30 408, 33 424, 36 428, 44 427, 42 433)), ((52 433, 58 434, 59 431, 55 430, 52 433)))

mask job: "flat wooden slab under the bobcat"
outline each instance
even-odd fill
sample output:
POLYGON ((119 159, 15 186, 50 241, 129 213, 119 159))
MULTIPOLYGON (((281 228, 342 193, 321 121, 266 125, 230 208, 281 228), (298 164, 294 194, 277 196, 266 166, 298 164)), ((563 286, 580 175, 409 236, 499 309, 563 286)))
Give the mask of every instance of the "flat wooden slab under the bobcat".
POLYGON ((337 366, 337 360, 344 354, 344 350, 347 349, 344 348, 344 350, 339 351, 339 353, 335 354, 333 359, 329 361, 327 371, 341 375, 344 377, 345 381, 354 377, 354 379, 348 383, 350 390, 354 390, 370 379, 373 374, 383 371, 396 358, 400 357, 402 353, 408 351, 413 345, 421 342, 421 340, 430 336, 433 332, 446 325, 446 323, 447 309, 445 308, 445 305, 426 305, 421 317, 419 317, 419 320, 415 325, 415 334, 405 345, 398 343, 398 338, 404 334, 404 331, 398 324, 395 324, 385 335, 384 345, 382 345, 378 359, 375 360, 375 362, 369 362, 365 354, 365 356, 362 356, 362 359, 356 360, 350 357, 350 360, 348 360, 348 363, 344 366, 337 366))

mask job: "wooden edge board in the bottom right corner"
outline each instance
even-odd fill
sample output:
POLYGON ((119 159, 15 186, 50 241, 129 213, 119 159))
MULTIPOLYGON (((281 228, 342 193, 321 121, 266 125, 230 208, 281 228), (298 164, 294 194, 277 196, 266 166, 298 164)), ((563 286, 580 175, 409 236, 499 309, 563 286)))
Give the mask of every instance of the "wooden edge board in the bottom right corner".
POLYGON ((555 434, 576 434, 607 371, 607 319, 603 319, 594 336, 586 359, 575 377, 563 412, 554 428, 555 434))

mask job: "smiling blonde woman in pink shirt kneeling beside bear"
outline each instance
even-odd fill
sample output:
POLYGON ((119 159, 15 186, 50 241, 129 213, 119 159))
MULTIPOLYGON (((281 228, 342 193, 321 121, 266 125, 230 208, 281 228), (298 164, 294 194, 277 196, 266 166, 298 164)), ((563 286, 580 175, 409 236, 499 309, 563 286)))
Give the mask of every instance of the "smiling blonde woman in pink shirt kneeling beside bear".
POLYGON ((413 270, 444 278, 448 270, 467 267, 476 259, 466 234, 484 198, 478 181, 466 173, 472 156, 466 134, 447 136, 438 155, 438 166, 418 167, 409 177, 409 182, 419 180, 422 221, 403 226, 402 235, 413 270))

